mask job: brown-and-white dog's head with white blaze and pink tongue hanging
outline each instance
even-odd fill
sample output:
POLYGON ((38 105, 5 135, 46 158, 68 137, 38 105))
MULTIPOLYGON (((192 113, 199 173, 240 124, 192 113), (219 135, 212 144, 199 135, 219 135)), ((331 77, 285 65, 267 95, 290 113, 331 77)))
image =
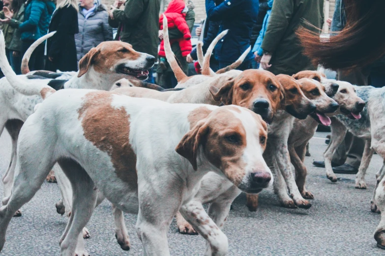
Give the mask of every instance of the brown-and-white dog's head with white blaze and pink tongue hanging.
POLYGON ((320 124, 329 126, 331 121, 325 114, 336 111, 338 103, 326 95, 325 87, 320 82, 309 78, 301 78, 298 82, 306 98, 317 107, 316 111, 310 114, 310 116, 320 124))

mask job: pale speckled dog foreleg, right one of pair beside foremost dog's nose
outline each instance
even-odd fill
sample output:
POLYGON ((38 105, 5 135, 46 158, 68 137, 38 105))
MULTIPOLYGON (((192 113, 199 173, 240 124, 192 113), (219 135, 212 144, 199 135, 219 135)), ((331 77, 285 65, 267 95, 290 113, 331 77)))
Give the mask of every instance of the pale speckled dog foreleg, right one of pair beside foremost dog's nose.
POLYGON ((277 162, 278 168, 286 181, 286 184, 289 188, 289 192, 299 208, 308 209, 311 207, 309 201, 305 200, 301 193, 299 193, 298 187, 296 185, 296 180, 291 168, 290 155, 287 145, 287 140, 276 140, 276 152, 275 160, 277 162))

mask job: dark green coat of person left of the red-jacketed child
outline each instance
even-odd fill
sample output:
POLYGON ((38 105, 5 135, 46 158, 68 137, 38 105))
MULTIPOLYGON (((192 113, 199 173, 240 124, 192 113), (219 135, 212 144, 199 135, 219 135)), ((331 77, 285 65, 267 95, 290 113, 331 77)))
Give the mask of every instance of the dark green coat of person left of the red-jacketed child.
POLYGON ((118 27, 116 39, 132 45, 135 51, 158 54, 160 0, 127 0, 124 10, 114 10, 112 27, 118 27))

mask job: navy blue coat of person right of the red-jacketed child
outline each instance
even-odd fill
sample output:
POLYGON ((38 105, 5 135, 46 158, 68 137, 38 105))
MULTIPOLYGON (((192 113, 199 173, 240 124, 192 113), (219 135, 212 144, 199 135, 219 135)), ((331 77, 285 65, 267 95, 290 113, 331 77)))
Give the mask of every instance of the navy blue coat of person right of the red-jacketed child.
MULTIPOLYGON (((224 0, 215 6, 206 0, 209 21, 220 21, 219 32, 229 29, 227 35, 215 46, 215 58, 220 62, 234 62, 250 47, 251 31, 258 16, 258 0, 224 0)), ((252 52, 246 57, 253 58, 252 52)))

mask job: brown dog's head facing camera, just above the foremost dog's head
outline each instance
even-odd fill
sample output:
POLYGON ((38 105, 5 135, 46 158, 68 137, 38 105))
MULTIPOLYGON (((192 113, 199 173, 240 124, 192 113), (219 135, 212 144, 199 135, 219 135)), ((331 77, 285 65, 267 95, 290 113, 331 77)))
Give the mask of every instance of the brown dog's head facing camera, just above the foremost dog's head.
POLYGON ((268 123, 273 120, 284 99, 281 84, 268 71, 246 70, 234 78, 227 78, 227 81, 222 84, 223 86, 219 89, 210 86, 210 92, 215 101, 248 108, 260 114, 268 123))

